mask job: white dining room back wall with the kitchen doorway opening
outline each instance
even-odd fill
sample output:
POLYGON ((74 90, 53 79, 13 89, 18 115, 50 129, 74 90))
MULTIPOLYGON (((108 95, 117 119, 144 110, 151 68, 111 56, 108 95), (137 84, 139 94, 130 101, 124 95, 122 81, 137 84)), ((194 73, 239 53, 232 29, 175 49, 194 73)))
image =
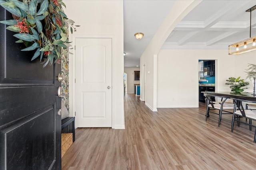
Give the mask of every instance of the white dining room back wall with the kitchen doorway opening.
MULTIPOLYGON (((256 63, 256 52, 228 55, 226 50, 161 49, 158 54, 157 107, 198 107, 198 60, 216 61, 216 91, 230 91, 229 77, 245 78, 248 63, 256 63)), ((252 86, 252 84, 251 84, 252 86)), ((245 90, 246 91, 246 90, 245 90)), ((252 92, 253 88, 248 89, 252 92)))

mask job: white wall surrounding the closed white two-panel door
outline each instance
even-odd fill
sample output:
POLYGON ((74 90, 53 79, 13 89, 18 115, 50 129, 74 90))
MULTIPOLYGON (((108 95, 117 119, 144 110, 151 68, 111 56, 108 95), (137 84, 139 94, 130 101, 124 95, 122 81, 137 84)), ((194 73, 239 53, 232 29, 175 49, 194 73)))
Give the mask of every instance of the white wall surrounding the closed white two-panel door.
MULTIPOLYGON (((65 14, 69 19, 75 21, 77 31, 70 33, 70 41, 73 36, 112 36, 113 39, 113 104, 114 122, 112 127, 124 129, 124 21, 122 0, 63 0, 66 4, 65 14)), ((72 52, 72 51, 71 51, 72 52)), ((70 55, 70 89, 74 89, 74 63, 70 55)), ((74 91, 74 90, 73 90, 74 91)), ((74 102, 73 94, 70 92, 70 104, 74 102)), ((74 104, 70 110, 74 112, 74 104)), ((72 113, 70 113, 72 114, 72 113)), ((74 113, 73 113, 74 115, 74 113)))

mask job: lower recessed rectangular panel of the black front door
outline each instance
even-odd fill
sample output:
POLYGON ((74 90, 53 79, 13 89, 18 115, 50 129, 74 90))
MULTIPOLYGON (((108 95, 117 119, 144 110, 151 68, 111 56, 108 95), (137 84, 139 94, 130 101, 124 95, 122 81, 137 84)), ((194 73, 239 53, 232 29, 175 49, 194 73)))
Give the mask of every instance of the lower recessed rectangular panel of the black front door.
POLYGON ((46 107, 1 129, 1 139, 4 140, 0 144, 5 148, 6 156, 0 157, 6 157, 7 169, 46 170, 56 161, 54 110, 55 105, 46 107))

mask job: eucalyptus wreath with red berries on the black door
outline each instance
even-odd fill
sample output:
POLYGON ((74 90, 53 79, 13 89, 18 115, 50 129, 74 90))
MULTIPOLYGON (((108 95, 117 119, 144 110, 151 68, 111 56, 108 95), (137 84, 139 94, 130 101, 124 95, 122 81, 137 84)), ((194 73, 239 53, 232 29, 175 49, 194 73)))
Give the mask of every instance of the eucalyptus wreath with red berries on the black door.
POLYGON ((16 43, 26 45, 21 51, 35 50, 31 61, 40 56, 40 61, 46 58, 44 66, 59 63, 60 51, 71 47, 67 24, 71 33, 80 26, 74 25, 74 21, 64 14, 62 6, 66 8, 66 5, 62 0, 0 0, 0 5, 13 16, 13 20, 0 23, 9 25, 6 29, 17 32, 13 35, 19 39, 16 43))

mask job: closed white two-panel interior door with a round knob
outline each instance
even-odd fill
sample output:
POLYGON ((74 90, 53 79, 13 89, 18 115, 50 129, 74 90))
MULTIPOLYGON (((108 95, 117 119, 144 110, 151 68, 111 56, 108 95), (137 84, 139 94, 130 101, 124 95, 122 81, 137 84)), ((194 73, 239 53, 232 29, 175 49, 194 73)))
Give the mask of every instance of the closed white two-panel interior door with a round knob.
POLYGON ((75 41, 76 126, 112 127, 112 39, 75 41))

